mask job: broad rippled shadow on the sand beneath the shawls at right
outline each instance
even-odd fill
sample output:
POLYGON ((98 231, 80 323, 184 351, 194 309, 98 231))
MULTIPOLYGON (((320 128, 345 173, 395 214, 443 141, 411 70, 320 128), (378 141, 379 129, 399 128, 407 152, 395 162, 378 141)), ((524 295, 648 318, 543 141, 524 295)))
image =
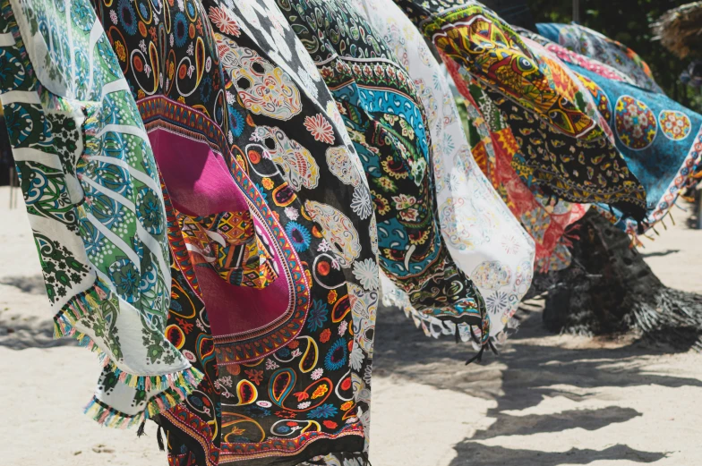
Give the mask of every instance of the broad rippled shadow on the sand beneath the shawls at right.
POLYGON ((482 365, 466 368, 464 362, 472 355, 472 348, 456 344, 450 337, 427 338, 421 330, 412 328, 400 310, 381 308, 376 323, 373 374, 405 377, 497 402, 497 406, 487 412, 487 416, 496 421, 490 428, 479 430, 455 445, 458 455, 450 466, 556 466, 598 460, 647 463, 664 458, 668 453, 643 452, 628 445, 613 445, 602 451, 572 448, 568 452, 552 453, 476 442, 496 436, 533 435, 568 428, 596 430, 641 415, 634 409, 617 406, 548 415, 512 416, 505 412, 526 410, 546 397, 583 401, 595 396, 597 389, 604 386, 702 386, 697 378, 650 374, 641 362, 632 362, 641 356, 655 357, 670 352, 667 348, 652 348, 643 343, 616 349, 564 349, 539 344, 538 337, 548 335, 551 334, 541 324, 541 312, 531 312, 499 357, 489 355, 484 357, 482 365))

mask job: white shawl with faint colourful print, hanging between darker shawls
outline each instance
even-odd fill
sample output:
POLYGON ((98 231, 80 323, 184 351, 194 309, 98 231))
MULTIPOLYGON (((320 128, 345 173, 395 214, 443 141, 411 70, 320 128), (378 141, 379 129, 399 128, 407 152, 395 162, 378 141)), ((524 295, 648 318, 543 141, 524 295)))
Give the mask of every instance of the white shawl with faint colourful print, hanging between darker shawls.
MULTIPOLYGON (((363 5, 359 11, 415 83, 432 139, 441 234, 451 257, 483 295, 491 335, 501 336, 531 284, 534 241, 475 164, 449 83, 415 25, 391 0, 364 0, 363 5)), ((418 312, 405 293, 387 290, 383 281, 386 298, 411 313, 427 335, 454 334, 453 326, 418 312)), ((467 328, 461 335, 470 338, 467 328)))

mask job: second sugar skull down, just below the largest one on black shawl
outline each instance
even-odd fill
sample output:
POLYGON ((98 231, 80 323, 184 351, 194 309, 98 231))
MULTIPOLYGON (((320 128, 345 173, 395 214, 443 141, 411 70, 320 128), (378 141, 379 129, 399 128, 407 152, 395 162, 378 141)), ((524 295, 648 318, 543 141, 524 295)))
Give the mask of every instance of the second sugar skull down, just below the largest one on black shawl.
POLYGON ((291 140, 278 127, 258 126, 252 135, 253 140, 265 147, 264 157, 280 167, 290 187, 300 191, 303 187, 313 190, 320 181, 320 167, 312 154, 296 140, 291 140))

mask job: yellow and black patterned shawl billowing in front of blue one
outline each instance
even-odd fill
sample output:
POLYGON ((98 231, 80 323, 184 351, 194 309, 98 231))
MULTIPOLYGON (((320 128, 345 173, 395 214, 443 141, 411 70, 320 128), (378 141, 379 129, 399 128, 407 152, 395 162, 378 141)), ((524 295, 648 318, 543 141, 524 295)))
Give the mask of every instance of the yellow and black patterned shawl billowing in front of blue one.
POLYGON ((518 118, 525 135, 518 161, 547 195, 603 202, 645 216, 643 187, 614 146, 588 93, 557 59, 527 47, 509 25, 485 8, 458 0, 396 0, 442 53, 482 82, 496 103, 518 118), (526 137, 528 136, 528 137, 526 137))

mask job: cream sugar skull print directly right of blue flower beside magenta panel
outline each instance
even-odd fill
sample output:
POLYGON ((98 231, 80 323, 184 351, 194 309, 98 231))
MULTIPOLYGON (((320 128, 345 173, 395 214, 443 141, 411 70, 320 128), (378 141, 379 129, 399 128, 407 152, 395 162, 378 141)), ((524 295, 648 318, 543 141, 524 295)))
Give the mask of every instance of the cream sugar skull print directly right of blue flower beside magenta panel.
POLYGON ((314 200, 305 201, 304 208, 312 220, 321 225, 326 233, 325 238, 330 239, 331 250, 336 254, 338 264, 345 268, 351 267, 358 258, 361 247, 351 220, 336 208, 314 200))

